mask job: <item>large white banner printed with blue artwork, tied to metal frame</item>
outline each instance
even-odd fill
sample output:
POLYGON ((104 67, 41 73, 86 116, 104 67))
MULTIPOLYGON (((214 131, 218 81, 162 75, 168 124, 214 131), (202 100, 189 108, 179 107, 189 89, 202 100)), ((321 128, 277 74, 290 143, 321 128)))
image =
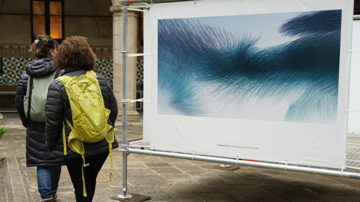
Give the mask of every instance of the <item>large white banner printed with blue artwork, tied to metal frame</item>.
POLYGON ((153 149, 341 168, 353 1, 207 0, 145 13, 153 149))

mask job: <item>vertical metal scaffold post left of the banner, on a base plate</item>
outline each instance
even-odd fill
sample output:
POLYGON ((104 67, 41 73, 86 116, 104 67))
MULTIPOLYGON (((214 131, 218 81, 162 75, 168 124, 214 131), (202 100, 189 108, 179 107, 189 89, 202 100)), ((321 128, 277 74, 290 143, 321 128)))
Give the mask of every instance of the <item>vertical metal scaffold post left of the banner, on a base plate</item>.
MULTIPOLYGON (((128 9, 122 8, 122 99, 128 99, 128 9)), ((132 198, 128 191, 128 104, 122 102, 122 195, 132 198)))

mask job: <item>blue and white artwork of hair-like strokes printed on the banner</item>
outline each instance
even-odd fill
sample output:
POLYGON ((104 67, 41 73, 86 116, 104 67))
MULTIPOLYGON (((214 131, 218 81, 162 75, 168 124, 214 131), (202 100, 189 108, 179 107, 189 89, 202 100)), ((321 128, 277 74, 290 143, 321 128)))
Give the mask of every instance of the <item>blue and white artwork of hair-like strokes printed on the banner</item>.
POLYGON ((341 10, 158 19, 157 113, 335 124, 341 10))

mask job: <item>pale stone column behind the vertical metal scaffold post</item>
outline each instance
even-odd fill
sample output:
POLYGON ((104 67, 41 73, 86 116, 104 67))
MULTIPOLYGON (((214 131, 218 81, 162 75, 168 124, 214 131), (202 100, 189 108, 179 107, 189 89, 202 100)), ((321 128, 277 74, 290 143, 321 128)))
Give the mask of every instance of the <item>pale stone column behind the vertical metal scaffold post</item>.
MULTIPOLYGON (((117 101, 122 100, 122 10, 118 0, 112 0, 113 6, 113 90, 117 101)), ((128 11, 128 51, 137 51, 137 17, 136 11, 128 11)), ((136 99, 136 57, 128 57, 128 99, 136 99)), ((122 104, 118 102, 119 114, 117 120, 122 119, 122 104)), ((138 120, 136 103, 128 105, 128 120, 138 120)))

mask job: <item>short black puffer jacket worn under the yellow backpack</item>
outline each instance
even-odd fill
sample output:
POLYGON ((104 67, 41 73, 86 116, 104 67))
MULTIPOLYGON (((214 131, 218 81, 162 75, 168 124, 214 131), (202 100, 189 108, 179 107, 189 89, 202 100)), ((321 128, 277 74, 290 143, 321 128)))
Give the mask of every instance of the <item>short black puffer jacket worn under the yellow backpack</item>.
MULTIPOLYGON (((86 70, 82 68, 69 69, 61 73, 60 76, 80 76, 85 74, 86 70)), ((100 74, 96 74, 99 81, 102 97, 104 99, 104 105, 106 109, 110 109, 111 113, 107 123, 115 126, 115 120, 118 114, 118 108, 116 98, 107 80, 100 74)), ((73 152, 67 145, 67 138, 71 129, 65 124, 65 136, 66 136, 66 150, 67 155, 64 156, 63 147, 63 122, 64 116, 69 120, 70 124, 73 125, 73 116, 71 115, 70 103, 64 85, 58 80, 54 80, 47 93, 47 100, 45 106, 45 137, 46 146, 49 149, 50 154, 65 157, 65 158, 80 158, 81 155, 73 152)), ((109 151, 109 144, 105 139, 97 143, 83 143, 85 149, 85 156, 92 156, 109 151)), ((112 144, 113 149, 119 147, 116 138, 112 144)))

